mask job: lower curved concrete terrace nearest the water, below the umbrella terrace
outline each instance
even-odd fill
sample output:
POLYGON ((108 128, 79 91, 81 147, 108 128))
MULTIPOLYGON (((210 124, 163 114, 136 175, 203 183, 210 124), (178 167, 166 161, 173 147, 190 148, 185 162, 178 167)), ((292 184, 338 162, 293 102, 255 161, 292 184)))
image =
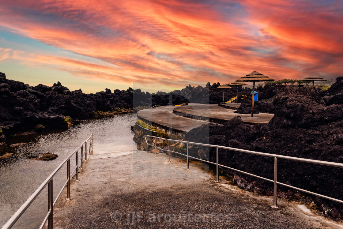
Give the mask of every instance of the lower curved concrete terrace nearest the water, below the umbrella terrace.
POLYGON ((170 128, 180 132, 188 132, 202 124, 209 123, 204 120, 195 120, 175 115, 173 113, 173 109, 175 107, 176 106, 163 106, 140 110, 137 112, 137 116, 143 120, 152 122, 153 124, 161 125, 164 128, 170 128))

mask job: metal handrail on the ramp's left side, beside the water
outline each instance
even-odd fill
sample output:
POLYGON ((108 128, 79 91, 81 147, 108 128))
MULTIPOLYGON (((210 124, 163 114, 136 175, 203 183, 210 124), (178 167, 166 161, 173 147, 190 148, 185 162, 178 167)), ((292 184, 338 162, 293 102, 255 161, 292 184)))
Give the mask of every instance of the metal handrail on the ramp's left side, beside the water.
MULTIPOLYGON (((70 179, 73 177, 74 171, 76 170, 76 180, 78 181, 79 178, 79 150, 81 149, 81 165, 82 165, 82 156, 83 156, 83 152, 82 152, 82 148, 83 148, 83 144, 85 144, 85 157, 84 160, 87 160, 87 141, 90 141, 90 146, 93 147, 93 133, 91 134, 90 137, 87 138, 86 141, 84 141, 76 150, 74 150, 74 152, 72 154, 70 154, 55 170, 54 172, 52 172, 50 174, 50 176, 45 179, 45 181, 36 189, 36 191, 25 201, 25 203, 11 216, 11 218, 1 227, 1 229, 10 229, 13 227, 13 225, 15 224, 15 222, 21 217, 21 215, 23 215, 23 213, 25 212, 25 210, 33 203, 33 201, 37 198, 37 196, 43 191, 43 189, 48 185, 48 214, 45 216, 42 224, 40 225, 39 228, 43 228, 45 225, 45 222, 48 220, 48 228, 52 229, 52 212, 53 212, 53 207, 56 204, 56 201, 58 199, 58 197, 61 195, 64 187, 67 185, 67 199, 66 200, 71 200, 70 198, 70 179), (70 158, 76 154, 76 168, 74 169, 72 175, 70 175, 70 158), (54 176, 56 175, 56 173, 62 168, 62 166, 64 166, 67 163, 67 181, 66 183, 63 185, 61 191, 59 192, 59 194, 57 195, 55 201, 53 201, 53 197, 52 197, 52 180, 54 178, 54 176)), ((90 148, 90 152, 91 152, 91 148, 90 148)), ((82 167, 82 166, 81 166, 82 167)))

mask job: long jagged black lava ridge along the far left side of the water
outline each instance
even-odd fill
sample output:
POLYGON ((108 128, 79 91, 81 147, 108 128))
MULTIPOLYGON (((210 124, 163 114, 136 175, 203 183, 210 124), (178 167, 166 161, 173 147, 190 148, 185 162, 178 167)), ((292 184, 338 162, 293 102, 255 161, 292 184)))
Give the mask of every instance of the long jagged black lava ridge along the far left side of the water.
MULTIPOLYGON (((0 141, 5 135, 17 132, 37 133, 45 129, 64 129, 73 119, 133 112, 152 106, 193 103, 220 103, 222 90, 219 83, 206 87, 191 87, 170 93, 150 94, 131 87, 126 91, 106 88, 103 92, 85 94, 81 89, 70 91, 60 82, 51 87, 38 84, 29 86, 8 80, 0 73, 0 141), (44 126, 45 128, 42 128, 44 126), (38 128, 40 127, 40 128, 38 128), (27 131, 28 130, 28 131, 27 131)), ((240 89, 240 93, 249 91, 240 89)), ((235 95, 235 89, 225 90, 227 99, 235 95)))

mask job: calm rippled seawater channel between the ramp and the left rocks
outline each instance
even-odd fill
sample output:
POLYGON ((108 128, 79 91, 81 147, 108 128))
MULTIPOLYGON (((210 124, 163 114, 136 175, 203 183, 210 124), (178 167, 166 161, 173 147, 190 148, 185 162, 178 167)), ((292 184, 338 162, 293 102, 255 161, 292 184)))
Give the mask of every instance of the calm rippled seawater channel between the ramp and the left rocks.
MULTIPOLYGON (((89 119, 80 121, 68 130, 8 139, 8 145, 19 142, 26 144, 15 148, 1 146, 0 149, 1 154, 17 154, 10 162, 0 164, 0 227, 92 132, 94 155, 137 150, 130 129, 136 119, 136 114, 89 119), (47 152, 56 153, 58 158, 51 161, 38 161, 26 157, 32 153, 47 152)), ((71 159, 71 167, 75 167, 74 157, 71 159)), ((54 199, 66 181, 66 176, 66 168, 62 168, 54 177, 54 199)), ((38 228, 47 214, 47 204, 46 187, 17 221, 14 228, 38 228)))

